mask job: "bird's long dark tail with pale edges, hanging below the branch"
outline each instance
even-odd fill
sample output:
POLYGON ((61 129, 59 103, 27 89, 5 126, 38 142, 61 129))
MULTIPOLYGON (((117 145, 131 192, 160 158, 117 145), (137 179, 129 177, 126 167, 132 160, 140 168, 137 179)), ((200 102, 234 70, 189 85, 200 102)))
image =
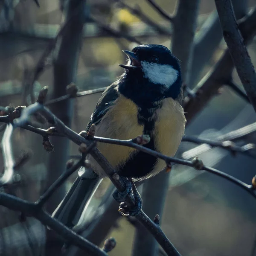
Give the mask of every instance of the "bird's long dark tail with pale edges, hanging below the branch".
POLYGON ((76 226, 101 181, 78 176, 52 216, 67 227, 76 226))

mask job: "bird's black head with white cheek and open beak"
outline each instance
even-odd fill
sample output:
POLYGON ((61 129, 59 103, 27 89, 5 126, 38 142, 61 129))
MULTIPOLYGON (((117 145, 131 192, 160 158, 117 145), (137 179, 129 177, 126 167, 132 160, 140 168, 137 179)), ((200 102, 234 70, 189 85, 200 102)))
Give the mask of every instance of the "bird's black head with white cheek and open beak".
POLYGON ((143 44, 131 52, 123 52, 128 56, 128 63, 120 66, 125 68, 128 78, 140 80, 140 84, 144 84, 143 90, 159 92, 174 99, 178 97, 181 89, 180 61, 167 47, 143 44))

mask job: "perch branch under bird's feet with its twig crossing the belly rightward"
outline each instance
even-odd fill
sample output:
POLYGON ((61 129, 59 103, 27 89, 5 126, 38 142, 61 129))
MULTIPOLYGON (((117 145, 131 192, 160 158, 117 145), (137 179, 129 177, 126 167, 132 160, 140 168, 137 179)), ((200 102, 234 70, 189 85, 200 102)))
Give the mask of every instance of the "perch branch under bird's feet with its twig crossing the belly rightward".
MULTIPOLYGON (((23 110, 23 111, 26 111, 23 110)), ((41 110, 43 116, 50 122, 52 125, 54 125, 57 129, 57 131, 61 132, 64 134, 67 138, 72 140, 74 143, 80 145, 81 143, 85 143, 87 146, 90 146, 93 141, 92 140, 86 140, 84 137, 81 137, 79 134, 68 128, 66 125, 64 125, 63 122, 61 122, 60 119, 58 119, 55 115, 51 113, 47 108, 42 106, 41 110)), ((146 152, 148 154, 151 154, 155 157, 158 157, 166 162, 166 164, 169 166, 171 163, 178 163, 178 164, 183 164, 186 166, 194 167, 195 169, 198 170, 205 170, 207 172, 211 172, 215 175, 221 176, 227 180, 230 180, 233 183, 236 183, 238 186, 246 190, 248 193, 253 195, 254 198, 256 198, 256 195, 253 192, 253 188, 255 186, 248 185, 235 177, 232 177, 230 175, 225 174, 224 172, 218 171, 213 168, 209 168, 207 166, 204 166, 201 160, 198 158, 195 158, 192 161, 188 160, 181 160, 175 157, 168 157, 163 154, 160 154, 157 151, 151 150, 149 148, 145 148, 141 145, 138 145, 134 143, 134 141, 139 142, 142 141, 143 137, 137 137, 134 140, 113 140, 113 139, 108 139, 108 138, 102 138, 102 137, 94 137, 94 141, 99 141, 102 143, 111 143, 111 144, 117 144, 117 145, 124 145, 132 148, 136 148, 140 151, 146 152)), ((119 179, 119 175, 117 175, 115 169, 108 163, 108 161, 105 159, 105 157, 99 152, 97 148, 92 148, 90 151, 90 154, 92 157, 99 163, 99 165, 102 167, 102 169, 106 172, 112 183, 116 186, 116 188, 122 192, 123 185, 119 179)), ((134 198, 133 195, 129 194, 126 197, 126 201, 129 206, 134 206, 134 198)), ((159 227, 158 224, 155 224, 153 221, 151 221, 147 215, 143 211, 140 211, 136 218, 151 232, 151 234, 155 237, 155 239, 158 241, 158 243, 163 247, 165 252, 168 255, 180 255, 175 247, 172 245, 172 243, 167 239, 166 235, 163 233, 161 228, 159 227)))

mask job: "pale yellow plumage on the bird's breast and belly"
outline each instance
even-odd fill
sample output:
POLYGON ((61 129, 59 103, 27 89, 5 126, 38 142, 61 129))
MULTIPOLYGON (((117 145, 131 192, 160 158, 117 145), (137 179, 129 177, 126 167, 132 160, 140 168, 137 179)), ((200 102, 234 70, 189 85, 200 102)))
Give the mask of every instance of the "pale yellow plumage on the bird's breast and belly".
MULTIPOLYGON (((137 105, 134 102, 119 96, 96 126, 95 136, 129 140, 143 134, 143 125, 138 124, 137 111, 137 105)), ((174 156, 185 129, 186 119, 183 108, 178 102, 168 98, 163 101, 162 108, 157 110, 154 116, 156 122, 152 136, 156 150, 162 154, 174 156)), ((97 147, 114 168, 125 163, 131 154, 137 152, 134 148, 106 143, 98 143, 97 147)), ((92 157, 89 157, 89 160, 99 177, 104 177, 105 172, 99 164, 92 157)), ((157 174, 165 166, 166 163, 158 159, 153 172, 148 177, 157 174)))

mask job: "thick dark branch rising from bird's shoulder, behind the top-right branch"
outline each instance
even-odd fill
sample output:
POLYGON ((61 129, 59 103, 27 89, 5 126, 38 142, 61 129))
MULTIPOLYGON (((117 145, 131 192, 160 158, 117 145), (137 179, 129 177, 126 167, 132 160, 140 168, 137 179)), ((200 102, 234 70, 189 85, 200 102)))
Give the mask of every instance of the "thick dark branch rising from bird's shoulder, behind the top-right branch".
MULTIPOLYGON (((256 32, 256 8, 240 21, 239 29, 244 37, 244 43, 248 44, 256 32)), ((214 69, 210 70, 195 87, 194 91, 198 93, 198 97, 196 99, 190 98, 187 102, 184 102, 186 125, 207 105, 213 96, 218 95, 218 89, 230 78, 233 68, 233 61, 228 49, 226 49, 220 60, 215 64, 214 69)))

